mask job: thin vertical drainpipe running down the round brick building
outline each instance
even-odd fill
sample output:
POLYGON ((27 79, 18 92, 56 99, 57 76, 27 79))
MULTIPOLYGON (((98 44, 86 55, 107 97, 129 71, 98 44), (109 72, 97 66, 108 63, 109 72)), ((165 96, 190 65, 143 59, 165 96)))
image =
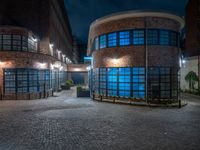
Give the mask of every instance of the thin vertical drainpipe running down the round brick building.
POLYGON ((145 98, 148 103, 148 28, 147 28, 147 17, 145 17, 145 98))

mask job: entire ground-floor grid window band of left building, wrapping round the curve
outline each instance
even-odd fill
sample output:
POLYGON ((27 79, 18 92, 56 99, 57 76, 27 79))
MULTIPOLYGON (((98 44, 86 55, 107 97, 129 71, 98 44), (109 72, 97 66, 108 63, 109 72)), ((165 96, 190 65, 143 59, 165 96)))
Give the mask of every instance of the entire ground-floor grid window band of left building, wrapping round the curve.
POLYGON ((66 72, 28 68, 4 69, 4 93, 34 93, 56 90, 66 80, 66 72))

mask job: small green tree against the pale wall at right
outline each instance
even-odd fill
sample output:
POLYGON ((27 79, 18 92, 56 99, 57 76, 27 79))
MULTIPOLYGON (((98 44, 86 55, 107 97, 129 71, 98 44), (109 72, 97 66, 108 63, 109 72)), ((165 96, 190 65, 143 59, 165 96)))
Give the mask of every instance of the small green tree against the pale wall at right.
POLYGON ((186 76, 185 80, 189 83, 190 92, 194 91, 194 85, 198 82, 198 76, 194 71, 190 71, 186 76))

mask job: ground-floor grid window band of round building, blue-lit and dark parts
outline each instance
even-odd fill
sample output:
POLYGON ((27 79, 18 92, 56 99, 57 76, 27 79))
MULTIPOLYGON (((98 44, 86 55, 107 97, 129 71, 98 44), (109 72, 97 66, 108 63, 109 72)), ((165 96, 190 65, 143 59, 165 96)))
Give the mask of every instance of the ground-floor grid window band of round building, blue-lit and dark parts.
MULTIPOLYGON (((147 74, 149 99, 176 99, 178 70, 172 67, 149 67, 147 74)), ((92 72, 92 91, 104 96, 145 98, 144 67, 96 68, 92 72)))

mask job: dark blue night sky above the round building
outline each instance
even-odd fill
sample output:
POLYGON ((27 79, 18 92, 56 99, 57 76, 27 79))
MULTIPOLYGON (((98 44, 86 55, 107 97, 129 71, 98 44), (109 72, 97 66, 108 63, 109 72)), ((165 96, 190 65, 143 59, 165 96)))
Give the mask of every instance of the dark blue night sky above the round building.
POLYGON ((184 16, 188 0, 65 0, 73 35, 86 43, 89 26, 97 18, 127 10, 164 10, 184 16))

